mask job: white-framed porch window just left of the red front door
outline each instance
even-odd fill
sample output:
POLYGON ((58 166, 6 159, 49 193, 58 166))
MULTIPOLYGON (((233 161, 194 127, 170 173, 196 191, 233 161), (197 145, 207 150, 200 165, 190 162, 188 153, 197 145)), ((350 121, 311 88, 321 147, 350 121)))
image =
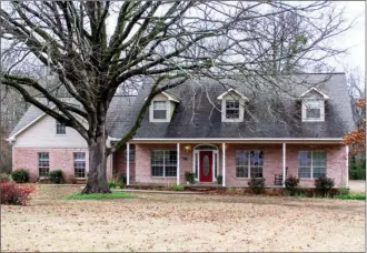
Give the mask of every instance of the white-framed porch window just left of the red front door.
POLYGON ((151 151, 151 175, 176 176, 177 151, 168 151, 168 150, 151 151))

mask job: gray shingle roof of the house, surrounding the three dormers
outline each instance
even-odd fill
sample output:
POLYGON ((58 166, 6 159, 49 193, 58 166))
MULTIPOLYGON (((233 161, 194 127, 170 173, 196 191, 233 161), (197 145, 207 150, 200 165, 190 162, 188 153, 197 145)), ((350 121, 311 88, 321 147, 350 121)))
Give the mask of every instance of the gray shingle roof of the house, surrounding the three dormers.
MULTIPOLYGON (((111 138, 121 138, 131 128, 151 84, 146 81, 137 97, 112 99, 107 115, 111 138)), ((169 93, 180 101, 171 121, 149 122, 148 110, 135 138, 341 138, 354 128, 344 73, 284 75, 277 80, 228 79, 221 83, 202 78, 188 80, 169 90, 169 93), (277 87, 270 89, 269 81, 277 87), (329 97, 325 122, 300 120, 300 102, 296 98, 310 87, 329 97), (244 122, 221 122, 217 98, 229 88, 235 88, 249 99, 244 122)), ((41 114, 31 105, 10 135, 41 114)))

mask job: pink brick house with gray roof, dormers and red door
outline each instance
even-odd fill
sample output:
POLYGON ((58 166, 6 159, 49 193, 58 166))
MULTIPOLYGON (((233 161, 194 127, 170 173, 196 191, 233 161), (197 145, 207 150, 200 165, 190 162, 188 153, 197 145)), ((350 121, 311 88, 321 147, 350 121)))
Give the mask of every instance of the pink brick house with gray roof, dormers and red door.
MULTIPOLYGON (((200 78, 158 94, 127 149, 108 158, 108 176, 126 173, 128 184, 173 184, 186 183, 185 172, 194 172, 198 184, 216 184, 222 175, 222 186, 247 186, 252 176, 274 185, 276 176, 294 175, 310 185, 326 174, 347 185, 343 135, 354 123, 345 74, 266 80, 200 78)), ((147 80, 136 97, 113 98, 109 142, 132 125, 151 83, 147 80)), ((88 174, 87 142, 32 105, 8 140, 13 169, 29 170, 33 181, 57 169, 67 181, 88 174)))

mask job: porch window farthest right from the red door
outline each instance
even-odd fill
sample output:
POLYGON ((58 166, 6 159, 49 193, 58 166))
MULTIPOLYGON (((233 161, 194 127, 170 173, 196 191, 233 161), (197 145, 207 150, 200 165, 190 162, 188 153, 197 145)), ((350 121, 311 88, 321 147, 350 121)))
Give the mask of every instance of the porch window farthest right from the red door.
POLYGON ((317 179, 326 174, 325 151, 299 151, 298 178, 317 179))

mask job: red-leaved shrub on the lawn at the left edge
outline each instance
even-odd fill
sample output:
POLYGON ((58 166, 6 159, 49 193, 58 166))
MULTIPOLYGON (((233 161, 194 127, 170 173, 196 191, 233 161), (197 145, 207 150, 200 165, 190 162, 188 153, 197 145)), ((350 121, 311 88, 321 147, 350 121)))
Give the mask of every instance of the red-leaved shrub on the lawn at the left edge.
POLYGON ((13 182, 1 181, 1 204, 26 205, 34 185, 19 186, 13 182))

